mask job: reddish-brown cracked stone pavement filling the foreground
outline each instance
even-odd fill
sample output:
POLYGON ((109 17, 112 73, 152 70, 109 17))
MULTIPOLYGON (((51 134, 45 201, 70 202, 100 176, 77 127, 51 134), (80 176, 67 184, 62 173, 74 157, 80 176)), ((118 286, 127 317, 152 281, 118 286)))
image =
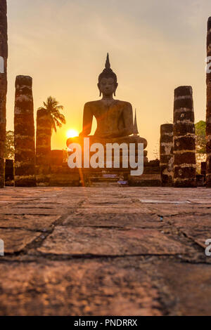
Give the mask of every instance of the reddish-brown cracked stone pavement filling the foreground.
POLYGON ((0 315, 211 315, 211 190, 0 190, 0 315))

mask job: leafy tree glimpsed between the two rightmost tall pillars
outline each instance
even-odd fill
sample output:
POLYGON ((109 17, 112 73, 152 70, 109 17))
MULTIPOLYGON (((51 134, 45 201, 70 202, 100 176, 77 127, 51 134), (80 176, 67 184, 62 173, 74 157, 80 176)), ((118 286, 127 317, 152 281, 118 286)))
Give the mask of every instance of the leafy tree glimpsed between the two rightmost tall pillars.
POLYGON ((200 173, 200 163, 206 160, 206 123, 203 120, 195 124, 196 128, 196 169, 200 173))

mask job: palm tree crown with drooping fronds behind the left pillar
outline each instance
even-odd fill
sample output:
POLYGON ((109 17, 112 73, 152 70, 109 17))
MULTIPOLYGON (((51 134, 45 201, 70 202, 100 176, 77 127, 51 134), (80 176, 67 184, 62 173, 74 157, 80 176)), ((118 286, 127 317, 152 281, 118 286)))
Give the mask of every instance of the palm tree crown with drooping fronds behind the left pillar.
POLYGON ((44 102, 44 107, 39 107, 38 110, 46 111, 51 118, 51 128, 56 132, 56 127, 61 127, 66 124, 65 116, 60 114, 60 110, 63 110, 63 105, 59 105, 56 98, 49 96, 46 103, 44 102))

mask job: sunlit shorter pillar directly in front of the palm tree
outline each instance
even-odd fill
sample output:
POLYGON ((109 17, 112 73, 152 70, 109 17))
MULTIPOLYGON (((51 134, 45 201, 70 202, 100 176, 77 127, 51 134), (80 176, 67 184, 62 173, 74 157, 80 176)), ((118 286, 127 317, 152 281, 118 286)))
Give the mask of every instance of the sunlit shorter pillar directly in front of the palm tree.
POLYGON ((51 118, 44 110, 37 110, 36 178, 37 185, 48 186, 51 161, 51 118))

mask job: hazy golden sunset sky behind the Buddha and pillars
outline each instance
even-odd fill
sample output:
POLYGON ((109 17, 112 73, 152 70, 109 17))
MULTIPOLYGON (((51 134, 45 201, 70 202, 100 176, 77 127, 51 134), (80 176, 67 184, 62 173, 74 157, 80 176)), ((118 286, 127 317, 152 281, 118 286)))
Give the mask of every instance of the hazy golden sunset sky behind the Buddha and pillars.
MULTIPOLYGON (((7 129, 13 129, 15 76, 33 78, 34 119, 49 95, 64 105, 67 124, 81 131, 84 103, 98 100, 106 53, 117 74, 116 98, 137 110, 148 158, 160 124, 172 122, 174 88, 193 86, 196 121, 205 119, 205 44, 210 0, 8 0, 7 129)), ((93 131, 94 133, 94 131, 93 131)))

